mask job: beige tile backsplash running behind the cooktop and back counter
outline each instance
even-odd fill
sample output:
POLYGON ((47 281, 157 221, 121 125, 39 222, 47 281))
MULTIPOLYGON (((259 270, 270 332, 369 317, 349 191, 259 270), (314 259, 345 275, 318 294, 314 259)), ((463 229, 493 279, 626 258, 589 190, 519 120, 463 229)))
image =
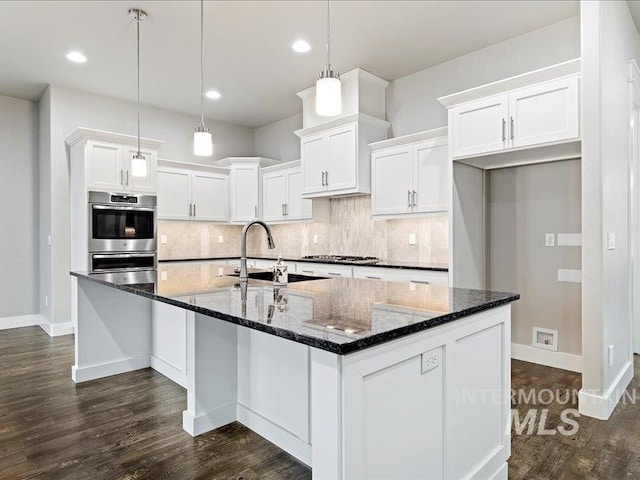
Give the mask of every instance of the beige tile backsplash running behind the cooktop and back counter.
MULTIPOLYGON (((362 255, 383 260, 448 263, 449 227, 446 215, 374 220, 371 197, 331 199, 329 223, 271 225, 276 249, 269 252, 264 231, 253 227, 247 239, 250 255, 362 255), (409 245, 415 234, 416 244, 409 245), (317 235, 318 243, 314 243, 317 235)), ((160 221, 161 260, 240 255, 242 226, 207 222, 160 221), (223 243, 218 243, 218 237, 223 243)))

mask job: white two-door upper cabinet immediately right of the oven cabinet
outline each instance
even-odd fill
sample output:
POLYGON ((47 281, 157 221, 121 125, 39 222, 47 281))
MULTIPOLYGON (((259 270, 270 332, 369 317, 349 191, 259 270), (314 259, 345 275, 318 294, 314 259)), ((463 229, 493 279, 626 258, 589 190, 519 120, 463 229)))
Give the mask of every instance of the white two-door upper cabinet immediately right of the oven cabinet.
POLYGON ((160 220, 229 220, 229 173, 225 169, 161 161, 158 168, 160 220))

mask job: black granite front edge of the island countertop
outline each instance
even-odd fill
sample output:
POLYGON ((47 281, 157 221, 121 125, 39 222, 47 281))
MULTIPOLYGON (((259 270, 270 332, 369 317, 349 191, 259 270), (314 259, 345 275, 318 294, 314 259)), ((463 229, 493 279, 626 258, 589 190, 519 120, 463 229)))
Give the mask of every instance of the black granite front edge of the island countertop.
POLYGON ((236 317, 233 315, 228 315, 222 312, 217 312, 215 310, 210 310, 208 308, 199 307, 197 305, 191 305, 189 303, 184 303, 179 300, 174 300, 172 298, 163 297, 161 295, 157 295, 155 293, 146 292, 143 290, 139 290, 133 287, 129 287, 127 285, 118 285, 106 280, 102 280, 99 277, 95 277, 92 275, 88 275, 86 273, 81 272, 70 272, 70 274, 74 277, 81 278, 83 280, 89 280, 94 283, 98 283, 101 285, 105 285, 107 287, 114 288, 116 290, 122 290, 127 293, 132 293, 134 295, 138 295, 141 297, 149 298, 151 300, 156 300, 159 302, 163 302, 169 305, 173 305, 175 307, 184 308, 186 310, 190 310, 196 313, 200 313, 202 315, 217 318, 219 320, 223 320, 226 322, 230 322, 236 325, 240 325, 242 327, 251 328, 253 330, 258 330, 267 334, 275 335, 280 338, 284 338, 287 340, 292 340, 298 343, 302 343, 304 345, 318 348, 320 350, 325 350, 331 353, 335 353, 338 355, 347 355, 350 353, 355 353, 370 347, 375 347, 377 345, 382 345, 384 343, 388 343, 392 340, 402 338, 408 335, 412 335, 415 333, 419 333, 421 331, 428 330, 430 328, 438 327, 440 325, 444 325, 446 323, 452 322, 454 320, 458 320, 464 317, 468 317, 475 313, 480 313, 486 310, 491 310, 493 308, 497 308, 503 305, 507 305, 512 303, 518 299, 520 299, 520 294, 517 293, 506 293, 506 292, 495 292, 495 293, 504 293, 506 295, 504 298, 500 298, 497 300, 493 300, 481 305, 476 305, 474 307, 462 309, 456 312, 451 312, 448 314, 444 314, 435 318, 431 318, 425 320, 423 322, 415 323, 412 325, 406 325, 404 327, 400 327, 391 331, 381 332, 375 335, 371 335, 369 337, 355 340, 350 343, 337 344, 325 339, 319 339, 315 337, 309 337, 306 335, 301 335, 290 330, 282 329, 280 327, 267 325, 261 322, 256 322, 253 320, 246 320, 244 318, 236 317))

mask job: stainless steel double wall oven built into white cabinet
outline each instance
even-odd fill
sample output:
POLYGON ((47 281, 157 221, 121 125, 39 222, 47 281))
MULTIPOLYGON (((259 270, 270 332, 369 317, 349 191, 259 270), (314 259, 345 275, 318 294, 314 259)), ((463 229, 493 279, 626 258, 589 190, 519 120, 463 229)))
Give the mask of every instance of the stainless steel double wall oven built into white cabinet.
POLYGON ((153 270, 157 263, 155 195, 89 192, 92 272, 153 270))

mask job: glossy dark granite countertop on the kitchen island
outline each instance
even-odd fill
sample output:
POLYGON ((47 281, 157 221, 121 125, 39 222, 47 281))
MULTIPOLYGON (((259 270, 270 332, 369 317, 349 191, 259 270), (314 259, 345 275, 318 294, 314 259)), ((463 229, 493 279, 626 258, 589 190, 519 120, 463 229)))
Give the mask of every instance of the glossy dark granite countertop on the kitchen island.
POLYGON ((284 289, 250 279, 242 288, 232 273, 233 267, 210 262, 171 262, 161 264, 157 274, 71 275, 340 355, 520 298, 513 293, 351 278, 290 282, 284 289))

